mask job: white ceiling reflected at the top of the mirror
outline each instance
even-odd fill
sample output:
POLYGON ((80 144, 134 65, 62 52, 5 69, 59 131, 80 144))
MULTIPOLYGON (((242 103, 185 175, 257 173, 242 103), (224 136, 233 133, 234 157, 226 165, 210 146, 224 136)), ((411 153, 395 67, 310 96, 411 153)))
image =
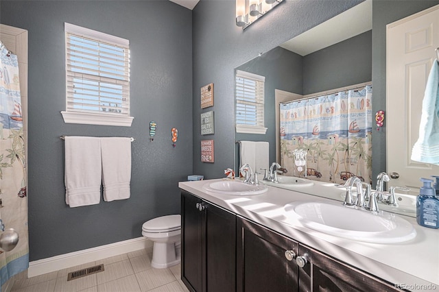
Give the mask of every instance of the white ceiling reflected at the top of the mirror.
POLYGON ((307 56, 309 53, 368 32, 370 29, 372 29, 372 0, 366 0, 288 40, 281 47, 294 51, 300 56, 307 56))

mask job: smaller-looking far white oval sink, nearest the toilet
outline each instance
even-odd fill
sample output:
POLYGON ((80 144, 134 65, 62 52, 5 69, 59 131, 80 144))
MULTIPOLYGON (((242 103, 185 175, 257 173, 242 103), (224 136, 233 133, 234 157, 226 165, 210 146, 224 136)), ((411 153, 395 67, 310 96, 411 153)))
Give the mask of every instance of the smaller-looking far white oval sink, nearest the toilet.
POLYGON ((241 180, 222 180, 220 182, 210 182, 203 185, 203 189, 212 193, 222 195, 261 195, 268 191, 264 184, 244 184, 241 180))

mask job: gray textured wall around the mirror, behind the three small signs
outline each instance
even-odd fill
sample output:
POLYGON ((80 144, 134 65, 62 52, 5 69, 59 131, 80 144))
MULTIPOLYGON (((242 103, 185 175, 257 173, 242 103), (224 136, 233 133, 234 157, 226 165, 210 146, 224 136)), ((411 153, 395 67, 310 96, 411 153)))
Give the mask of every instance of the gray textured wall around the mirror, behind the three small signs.
POLYGON ((193 171, 205 178, 220 178, 233 167, 234 71, 237 66, 267 52, 358 1, 283 1, 257 23, 242 30, 235 25, 235 1, 202 0, 193 10, 193 171), (215 84, 215 134, 200 134, 200 88, 215 84), (200 161, 200 141, 215 140, 215 163, 200 161))

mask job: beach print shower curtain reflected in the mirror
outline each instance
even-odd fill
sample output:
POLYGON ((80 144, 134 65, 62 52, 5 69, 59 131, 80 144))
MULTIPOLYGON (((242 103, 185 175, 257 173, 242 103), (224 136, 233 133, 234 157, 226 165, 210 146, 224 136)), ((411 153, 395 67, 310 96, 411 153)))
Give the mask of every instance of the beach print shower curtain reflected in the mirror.
POLYGON ((307 178, 372 182, 372 85, 280 105, 281 165, 307 153, 307 178))

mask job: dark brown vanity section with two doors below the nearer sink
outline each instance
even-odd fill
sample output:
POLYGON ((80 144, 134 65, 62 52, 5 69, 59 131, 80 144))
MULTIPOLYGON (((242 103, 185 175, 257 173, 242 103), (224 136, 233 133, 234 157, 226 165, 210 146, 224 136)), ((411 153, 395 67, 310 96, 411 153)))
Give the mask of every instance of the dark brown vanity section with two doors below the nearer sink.
POLYGON ((399 291, 246 219, 237 218, 237 291, 399 291))

